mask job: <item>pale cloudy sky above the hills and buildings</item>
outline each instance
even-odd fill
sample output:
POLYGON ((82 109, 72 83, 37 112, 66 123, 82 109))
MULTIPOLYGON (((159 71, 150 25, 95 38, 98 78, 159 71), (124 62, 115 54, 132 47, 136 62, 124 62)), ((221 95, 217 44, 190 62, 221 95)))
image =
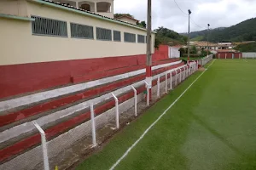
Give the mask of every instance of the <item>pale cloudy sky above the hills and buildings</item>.
MULTIPOLYGON (((114 13, 129 13, 147 20, 147 0, 114 0, 114 13)), ((256 0, 152 0, 152 28, 164 26, 188 32, 188 9, 192 11, 190 31, 234 26, 256 17, 256 0), (181 8, 181 11, 179 8, 181 8), (185 14, 183 14, 185 13, 185 14)))

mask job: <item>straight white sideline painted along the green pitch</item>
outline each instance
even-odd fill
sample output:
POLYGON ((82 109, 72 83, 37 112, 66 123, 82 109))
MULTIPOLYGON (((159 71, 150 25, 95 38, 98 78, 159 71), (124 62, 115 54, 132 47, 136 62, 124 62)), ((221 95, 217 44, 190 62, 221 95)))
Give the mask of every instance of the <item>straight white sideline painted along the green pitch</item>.
MULTIPOLYGON (((212 61, 211 65, 214 63, 214 61, 215 61, 215 59, 212 61)), ((211 65, 209 65, 207 68, 209 68, 211 65)), ((170 106, 166 109, 166 111, 164 111, 164 112, 163 112, 163 113, 145 130, 145 131, 144 131, 144 133, 140 136, 140 138, 137 139, 137 141, 136 141, 134 144, 132 144, 131 147, 130 147, 128 150, 125 151, 125 154, 124 154, 123 156, 121 156, 121 157, 119 158, 119 160, 116 161, 116 162, 113 164, 112 167, 110 167, 109 170, 113 170, 115 167, 117 167, 117 166, 119 165, 119 162, 122 161, 122 160, 125 158, 125 156, 127 156, 127 155, 129 154, 129 152, 137 145, 137 143, 139 143, 139 141, 140 141, 141 139, 143 139, 143 137, 148 133, 148 131, 149 131, 152 127, 154 127, 154 125, 155 125, 157 122, 159 122, 160 118, 161 118, 162 116, 166 115, 166 112, 169 111, 169 110, 172 108, 172 106, 175 105, 175 104, 177 103, 177 101, 178 101, 181 97, 183 97, 183 94, 185 94, 185 93, 189 90, 189 88, 191 88, 191 86, 192 86, 206 71, 207 71, 207 70, 203 71, 203 72, 201 73, 201 75, 200 75, 199 77, 197 77, 197 78, 195 79, 195 81, 192 82, 192 83, 189 85, 189 87, 186 88, 185 91, 184 91, 182 94, 180 94, 180 95, 178 96, 178 98, 172 103, 172 105, 170 105, 170 106)))

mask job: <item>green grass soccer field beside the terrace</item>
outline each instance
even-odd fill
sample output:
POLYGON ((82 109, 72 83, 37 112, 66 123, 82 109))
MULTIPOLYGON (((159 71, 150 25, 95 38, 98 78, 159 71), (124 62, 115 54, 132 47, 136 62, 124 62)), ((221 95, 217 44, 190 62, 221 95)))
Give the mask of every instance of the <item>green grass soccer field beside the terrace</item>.
POLYGON ((211 64, 76 169, 255 170, 256 60, 216 59, 211 64))

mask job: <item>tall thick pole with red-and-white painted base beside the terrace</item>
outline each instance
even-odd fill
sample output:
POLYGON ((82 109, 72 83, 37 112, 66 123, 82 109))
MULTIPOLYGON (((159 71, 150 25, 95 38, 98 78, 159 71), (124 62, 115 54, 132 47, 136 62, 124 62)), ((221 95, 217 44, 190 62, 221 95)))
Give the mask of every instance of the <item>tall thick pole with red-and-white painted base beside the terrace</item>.
POLYGON ((151 0, 148 0, 148 23, 147 23, 147 65, 146 65, 146 82, 148 82, 149 99, 151 99, 152 87, 152 54, 151 54, 151 0))

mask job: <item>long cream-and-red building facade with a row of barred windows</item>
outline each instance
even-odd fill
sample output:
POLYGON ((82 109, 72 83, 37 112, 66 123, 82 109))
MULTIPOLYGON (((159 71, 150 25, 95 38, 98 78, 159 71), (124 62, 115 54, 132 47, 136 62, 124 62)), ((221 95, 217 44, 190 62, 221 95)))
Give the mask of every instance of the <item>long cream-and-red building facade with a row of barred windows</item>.
POLYGON ((67 84, 94 71, 90 65, 146 54, 147 30, 139 26, 46 0, 0 4, 0 98, 67 84))

